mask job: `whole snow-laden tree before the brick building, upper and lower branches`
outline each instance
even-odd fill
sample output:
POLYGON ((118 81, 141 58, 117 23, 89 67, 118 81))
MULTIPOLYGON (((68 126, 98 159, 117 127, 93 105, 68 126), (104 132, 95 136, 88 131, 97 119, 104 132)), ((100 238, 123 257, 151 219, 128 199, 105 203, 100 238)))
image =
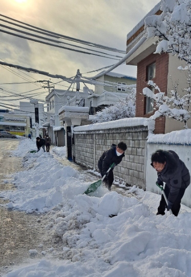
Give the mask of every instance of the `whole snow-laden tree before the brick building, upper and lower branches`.
POLYGON ((180 60, 187 63, 188 69, 187 88, 178 91, 178 85, 169 93, 171 97, 165 96, 159 87, 153 82, 148 85, 155 87, 159 92, 154 94, 149 88, 143 89, 143 94, 155 100, 155 112, 151 119, 161 115, 175 118, 185 123, 190 118, 188 111, 190 105, 190 74, 191 74, 191 0, 162 0, 160 15, 152 15, 145 18, 146 36, 157 37, 157 48, 155 53, 172 53, 180 60))

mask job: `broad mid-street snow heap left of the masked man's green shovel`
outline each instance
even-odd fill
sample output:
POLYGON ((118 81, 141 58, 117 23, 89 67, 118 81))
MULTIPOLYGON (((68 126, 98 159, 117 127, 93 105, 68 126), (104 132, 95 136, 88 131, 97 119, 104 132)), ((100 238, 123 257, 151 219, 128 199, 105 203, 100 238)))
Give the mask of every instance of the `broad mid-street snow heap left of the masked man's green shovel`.
MULTIPOLYGON (((9 191, 9 208, 44 213, 63 202, 63 198, 72 199, 83 193, 90 185, 72 167, 58 164, 50 153, 30 154, 39 156, 33 168, 15 174, 17 190, 9 191)), ((7 192, 0 195, 5 197, 7 192)))

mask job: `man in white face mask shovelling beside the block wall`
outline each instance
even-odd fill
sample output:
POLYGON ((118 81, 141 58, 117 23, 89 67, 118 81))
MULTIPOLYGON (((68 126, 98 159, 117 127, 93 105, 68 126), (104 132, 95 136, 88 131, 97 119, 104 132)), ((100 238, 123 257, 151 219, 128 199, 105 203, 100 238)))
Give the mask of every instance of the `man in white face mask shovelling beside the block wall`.
MULTIPOLYGON (((120 142, 118 145, 112 144, 110 149, 103 152, 103 154, 100 156, 98 161, 98 168, 102 177, 103 175, 105 175, 105 173, 108 171, 108 169, 113 163, 115 163, 115 166, 116 166, 122 161, 125 150, 126 150, 126 144, 123 142, 120 142)), ((105 186, 109 190, 111 190, 111 186, 114 181, 113 169, 114 167, 107 173, 107 176, 103 180, 105 186)))

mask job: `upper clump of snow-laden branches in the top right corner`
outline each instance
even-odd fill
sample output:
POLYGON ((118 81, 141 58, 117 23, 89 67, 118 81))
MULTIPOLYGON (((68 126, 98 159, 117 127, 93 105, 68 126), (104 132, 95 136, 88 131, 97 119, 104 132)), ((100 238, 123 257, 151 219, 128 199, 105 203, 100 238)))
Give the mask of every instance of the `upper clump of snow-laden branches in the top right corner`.
POLYGON ((163 0, 162 13, 145 18, 147 37, 158 37, 155 53, 171 52, 191 63, 191 0, 163 0))

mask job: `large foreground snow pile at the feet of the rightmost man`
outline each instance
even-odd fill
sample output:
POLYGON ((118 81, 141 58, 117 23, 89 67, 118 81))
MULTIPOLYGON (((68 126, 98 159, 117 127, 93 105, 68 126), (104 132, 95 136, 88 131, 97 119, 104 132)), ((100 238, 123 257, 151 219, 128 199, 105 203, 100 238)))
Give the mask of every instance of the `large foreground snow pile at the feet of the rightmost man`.
POLYGON ((159 201, 151 192, 141 201, 116 192, 76 195, 52 211, 46 227, 62 239, 63 260, 41 260, 7 277, 190 277, 190 213, 156 216, 159 201))

